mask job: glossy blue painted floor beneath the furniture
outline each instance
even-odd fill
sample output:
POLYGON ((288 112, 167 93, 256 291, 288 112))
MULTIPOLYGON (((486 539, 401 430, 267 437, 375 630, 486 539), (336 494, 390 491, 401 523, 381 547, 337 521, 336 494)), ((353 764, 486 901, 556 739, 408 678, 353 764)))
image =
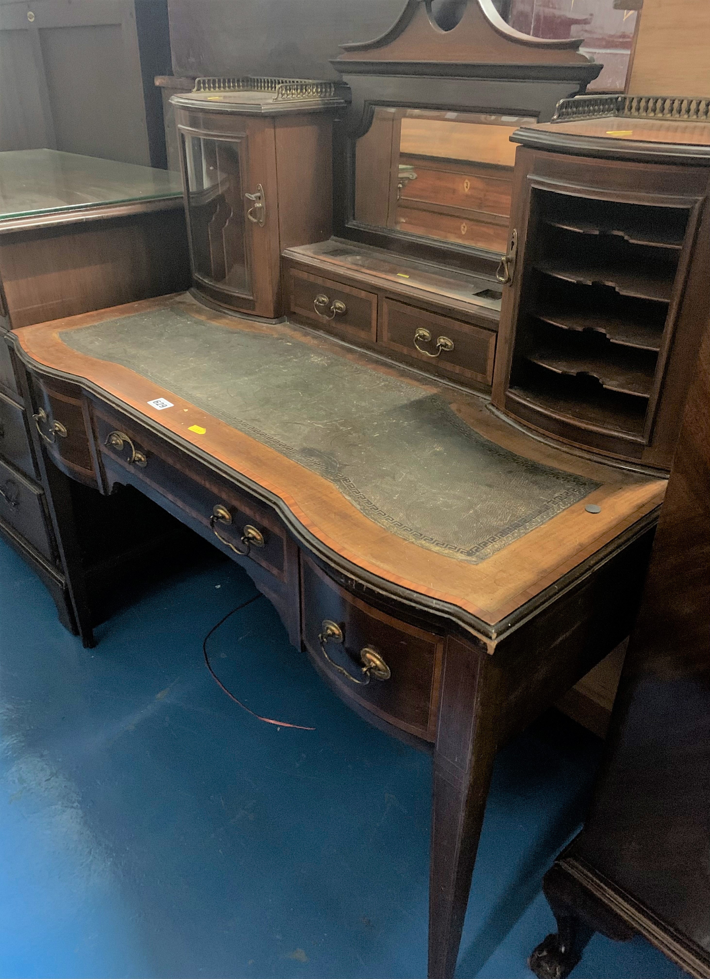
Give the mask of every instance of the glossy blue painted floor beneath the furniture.
MULTIPOLYGON (((431 760, 360 721, 216 552, 86 651, 0 542, 0 975, 422 979, 431 760)), ((599 742, 550 712, 500 753, 457 976, 530 977, 541 879, 599 742)), ((682 973, 595 937, 573 973, 682 973)))

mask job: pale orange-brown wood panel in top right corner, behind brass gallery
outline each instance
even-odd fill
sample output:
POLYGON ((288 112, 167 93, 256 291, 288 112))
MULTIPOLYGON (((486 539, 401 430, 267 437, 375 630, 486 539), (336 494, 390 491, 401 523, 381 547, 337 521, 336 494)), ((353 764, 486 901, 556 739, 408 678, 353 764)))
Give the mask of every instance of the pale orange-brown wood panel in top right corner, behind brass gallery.
POLYGON ((710 96, 710 0, 643 0, 629 92, 710 96))

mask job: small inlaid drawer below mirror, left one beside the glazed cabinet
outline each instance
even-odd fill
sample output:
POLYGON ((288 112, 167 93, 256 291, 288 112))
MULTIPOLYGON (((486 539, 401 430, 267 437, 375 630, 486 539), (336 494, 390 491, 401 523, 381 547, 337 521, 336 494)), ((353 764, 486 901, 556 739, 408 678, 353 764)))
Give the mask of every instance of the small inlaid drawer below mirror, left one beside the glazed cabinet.
POLYGON ((288 270, 289 311, 297 321, 355 343, 374 344, 377 296, 300 269, 288 270))

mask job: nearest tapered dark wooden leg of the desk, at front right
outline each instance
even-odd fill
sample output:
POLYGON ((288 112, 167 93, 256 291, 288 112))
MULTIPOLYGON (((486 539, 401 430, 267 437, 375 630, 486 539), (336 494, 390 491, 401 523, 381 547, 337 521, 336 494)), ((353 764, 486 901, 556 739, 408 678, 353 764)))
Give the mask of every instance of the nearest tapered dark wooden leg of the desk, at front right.
POLYGON ((496 757, 488 659, 447 642, 434 751, 429 979, 453 975, 496 757))

